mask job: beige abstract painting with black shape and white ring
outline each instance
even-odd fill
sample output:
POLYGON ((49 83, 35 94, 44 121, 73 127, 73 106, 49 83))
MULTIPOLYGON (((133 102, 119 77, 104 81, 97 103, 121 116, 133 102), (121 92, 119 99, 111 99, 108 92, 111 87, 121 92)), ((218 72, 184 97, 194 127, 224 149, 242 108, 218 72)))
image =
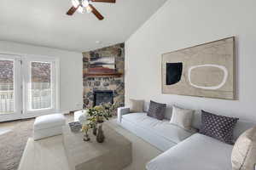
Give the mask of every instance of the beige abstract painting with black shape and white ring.
POLYGON ((162 93, 235 99, 235 37, 162 55, 162 93))

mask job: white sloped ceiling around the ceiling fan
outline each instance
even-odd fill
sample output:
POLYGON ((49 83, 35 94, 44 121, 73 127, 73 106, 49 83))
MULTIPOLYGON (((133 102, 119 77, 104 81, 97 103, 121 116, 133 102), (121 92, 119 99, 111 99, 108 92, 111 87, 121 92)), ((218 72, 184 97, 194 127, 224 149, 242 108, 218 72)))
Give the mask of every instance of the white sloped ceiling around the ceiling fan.
POLYGON ((66 14, 70 0, 1 0, 0 40, 87 51, 125 42, 166 0, 93 3, 103 14, 66 14), (96 43, 101 41, 101 43, 96 43))

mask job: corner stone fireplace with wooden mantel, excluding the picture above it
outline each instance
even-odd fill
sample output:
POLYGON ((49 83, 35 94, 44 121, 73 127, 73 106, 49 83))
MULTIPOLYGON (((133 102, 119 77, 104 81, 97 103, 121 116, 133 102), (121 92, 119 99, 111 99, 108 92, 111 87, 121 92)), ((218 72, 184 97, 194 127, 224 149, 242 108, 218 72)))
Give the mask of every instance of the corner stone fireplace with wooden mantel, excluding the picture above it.
POLYGON ((84 108, 111 101, 119 106, 125 105, 125 44, 119 43, 108 48, 83 53, 84 108), (88 74, 90 59, 114 57, 115 71, 119 74, 88 74), (112 95, 112 98, 111 98, 112 95), (102 97, 105 96, 105 97, 102 97))

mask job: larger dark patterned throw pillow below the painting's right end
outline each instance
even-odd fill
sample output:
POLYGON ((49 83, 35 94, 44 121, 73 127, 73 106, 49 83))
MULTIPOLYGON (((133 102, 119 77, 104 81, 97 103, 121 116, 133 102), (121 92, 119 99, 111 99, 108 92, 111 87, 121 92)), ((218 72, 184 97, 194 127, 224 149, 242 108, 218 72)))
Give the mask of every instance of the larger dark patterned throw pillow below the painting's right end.
POLYGON ((233 143, 233 129, 239 120, 235 117, 218 116, 207 111, 201 111, 200 132, 227 144, 233 143))

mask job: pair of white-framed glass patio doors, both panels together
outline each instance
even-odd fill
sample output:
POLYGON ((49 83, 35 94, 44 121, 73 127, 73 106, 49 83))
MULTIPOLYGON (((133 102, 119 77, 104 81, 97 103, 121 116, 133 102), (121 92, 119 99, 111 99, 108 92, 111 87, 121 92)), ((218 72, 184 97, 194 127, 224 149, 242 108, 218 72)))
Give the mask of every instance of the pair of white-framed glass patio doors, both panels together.
POLYGON ((58 60, 0 54, 0 122, 58 109, 58 60))

